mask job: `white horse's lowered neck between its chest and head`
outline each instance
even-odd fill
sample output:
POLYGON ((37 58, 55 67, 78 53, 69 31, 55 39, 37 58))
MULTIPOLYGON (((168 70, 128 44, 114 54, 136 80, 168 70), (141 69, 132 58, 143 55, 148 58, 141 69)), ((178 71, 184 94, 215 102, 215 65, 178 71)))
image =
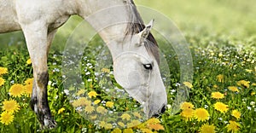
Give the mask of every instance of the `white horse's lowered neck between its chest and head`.
POLYGON ((123 0, 76 0, 78 14, 87 20, 99 33, 105 43, 116 38, 125 38, 125 31, 130 20, 127 4, 123 0))

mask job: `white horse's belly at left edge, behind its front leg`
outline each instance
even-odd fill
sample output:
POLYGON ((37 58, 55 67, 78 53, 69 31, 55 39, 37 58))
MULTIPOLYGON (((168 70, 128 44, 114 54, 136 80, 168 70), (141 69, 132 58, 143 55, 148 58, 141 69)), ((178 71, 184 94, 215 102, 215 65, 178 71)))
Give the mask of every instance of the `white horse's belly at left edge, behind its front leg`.
POLYGON ((14 0, 0 2, 0 33, 20 30, 14 0))

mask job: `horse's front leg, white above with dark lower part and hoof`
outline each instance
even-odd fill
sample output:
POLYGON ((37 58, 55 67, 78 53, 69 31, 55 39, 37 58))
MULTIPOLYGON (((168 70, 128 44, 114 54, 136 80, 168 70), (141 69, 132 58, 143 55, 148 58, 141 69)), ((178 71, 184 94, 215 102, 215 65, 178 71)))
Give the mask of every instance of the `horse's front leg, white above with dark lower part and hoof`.
POLYGON ((43 128, 54 128, 55 120, 52 118, 47 95, 47 84, 49 81, 47 56, 49 45, 55 32, 48 33, 47 26, 41 22, 33 22, 22 29, 26 38, 26 45, 32 60, 33 67, 33 90, 31 107, 37 114, 38 121, 43 128))

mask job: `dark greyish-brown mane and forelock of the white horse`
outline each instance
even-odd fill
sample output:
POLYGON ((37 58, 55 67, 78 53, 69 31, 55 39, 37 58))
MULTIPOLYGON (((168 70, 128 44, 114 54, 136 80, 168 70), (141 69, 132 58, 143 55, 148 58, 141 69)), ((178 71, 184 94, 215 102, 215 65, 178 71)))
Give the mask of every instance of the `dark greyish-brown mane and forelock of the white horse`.
MULTIPOLYGON (((137 7, 135 3, 132 0, 128 0, 128 9, 131 13, 130 16, 130 21, 128 23, 128 26, 125 31, 125 35, 134 35, 137 34, 138 32, 142 32, 143 29, 145 28, 145 25, 143 23, 143 19, 141 15, 137 11, 137 7)), ((160 55, 159 55, 159 48, 156 40, 154 39, 153 35, 151 32, 148 34, 148 41, 150 43, 145 43, 145 47, 148 51, 148 53, 152 54, 157 61, 158 65, 160 64, 160 55)))

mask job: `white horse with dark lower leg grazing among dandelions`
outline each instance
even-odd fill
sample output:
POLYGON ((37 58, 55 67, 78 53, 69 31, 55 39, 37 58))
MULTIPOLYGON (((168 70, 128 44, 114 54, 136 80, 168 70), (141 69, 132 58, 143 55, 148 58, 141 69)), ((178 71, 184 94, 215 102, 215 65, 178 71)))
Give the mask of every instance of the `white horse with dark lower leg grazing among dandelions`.
POLYGON ((113 56, 114 77, 143 104, 148 117, 164 112, 166 90, 160 77, 158 47, 149 32, 152 23, 143 26, 132 0, 2 0, 0 33, 22 30, 26 38, 34 77, 31 107, 39 122, 55 127, 47 101, 47 56, 56 30, 73 14, 99 32, 113 56), (104 9, 105 14, 96 14, 104 9))

